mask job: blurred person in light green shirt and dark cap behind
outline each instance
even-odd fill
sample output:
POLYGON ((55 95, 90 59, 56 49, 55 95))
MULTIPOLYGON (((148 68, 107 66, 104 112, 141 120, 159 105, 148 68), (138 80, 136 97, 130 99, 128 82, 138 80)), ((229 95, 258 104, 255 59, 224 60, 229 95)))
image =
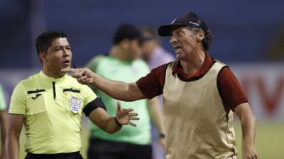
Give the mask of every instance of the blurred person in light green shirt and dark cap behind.
MULTIPOLYGON (((146 62, 139 59, 141 55, 141 40, 141 33, 133 25, 120 25, 114 33, 114 46, 109 54, 94 57, 89 61, 87 67, 104 76, 104 78, 134 82, 149 72, 146 62)), ((101 90, 92 89, 107 105, 107 112, 114 114, 117 100, 101 90)), ((116 134, 107 134, 98 129, 97 126, 90 125, 89 158, 152 158, 151 119, 153 119, 160 133, 163 133, 163 120, 158 99, 122 102, 122 104, 124 107, 134 105, 141 120, 136 123, 135 129, 131 126, 124 126, 116 134)))

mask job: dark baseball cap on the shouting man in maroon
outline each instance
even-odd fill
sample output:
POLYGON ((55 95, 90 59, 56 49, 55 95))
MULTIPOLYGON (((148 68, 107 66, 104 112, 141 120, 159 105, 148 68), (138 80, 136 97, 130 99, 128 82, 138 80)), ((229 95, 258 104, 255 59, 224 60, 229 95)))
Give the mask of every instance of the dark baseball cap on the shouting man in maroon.
POLYGON ((192 28, 200 28, 204 31, 205 35, 207 34, 208 27, 204 20, 200 17, 198 17, 195 13, 185 13, 182 14, 182 16, 175 18, 172 23, 169 25, 162 25, 158 29, 158 35, 162 37, 170 36, 170 31, 173 27, 176 26, 190 26, 192 28))

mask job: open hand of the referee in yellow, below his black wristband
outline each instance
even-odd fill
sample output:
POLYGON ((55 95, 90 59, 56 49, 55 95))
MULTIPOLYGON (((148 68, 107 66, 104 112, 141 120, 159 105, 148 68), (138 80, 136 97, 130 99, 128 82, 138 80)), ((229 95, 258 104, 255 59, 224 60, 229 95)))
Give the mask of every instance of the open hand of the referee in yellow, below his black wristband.
POLYGON ((139 120, 137 117, 138 114, 133 112, 132 108, 129 109, 121 109, 120 102, 117 102, 117 108, 116 108, 116 119, 121 125, 131 125, 136 126, 131 120, 139 120))

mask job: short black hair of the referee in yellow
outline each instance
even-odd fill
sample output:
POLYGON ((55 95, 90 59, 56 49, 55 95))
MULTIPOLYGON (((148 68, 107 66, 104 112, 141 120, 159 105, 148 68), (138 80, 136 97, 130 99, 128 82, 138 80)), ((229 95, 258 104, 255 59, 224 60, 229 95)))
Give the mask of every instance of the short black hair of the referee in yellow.
POLYGON ((51 42, 58 37, 66 37, 67 35, 61 30, 48 30, 36 37, 35 40, 35 48, 36 52, 39 54, 40 52, 48 52, 48 47, 50 47, 51 42))

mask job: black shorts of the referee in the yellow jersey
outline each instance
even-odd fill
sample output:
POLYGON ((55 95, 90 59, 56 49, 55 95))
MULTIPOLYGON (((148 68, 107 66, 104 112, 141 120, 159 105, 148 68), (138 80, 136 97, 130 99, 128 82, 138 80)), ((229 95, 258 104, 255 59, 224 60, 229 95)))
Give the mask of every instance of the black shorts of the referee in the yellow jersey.
POLYGON ((33 154, 28 153, 25 159, 83 159, 80 152, 56 153, 56 154, 33 154))

